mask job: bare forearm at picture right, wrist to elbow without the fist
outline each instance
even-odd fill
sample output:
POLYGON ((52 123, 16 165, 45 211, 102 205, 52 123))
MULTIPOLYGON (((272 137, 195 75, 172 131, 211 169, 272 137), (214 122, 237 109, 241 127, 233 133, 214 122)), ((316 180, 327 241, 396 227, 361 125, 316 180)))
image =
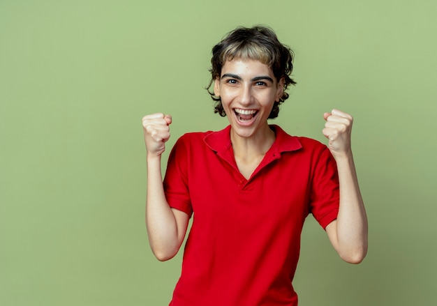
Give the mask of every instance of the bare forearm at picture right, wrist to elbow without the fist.
POLYGON ((341 258, 359 263, 367 252, 367 217, 352 153, 336 158, 339 170, 340 208, 336 220, 336 246, 341 258))

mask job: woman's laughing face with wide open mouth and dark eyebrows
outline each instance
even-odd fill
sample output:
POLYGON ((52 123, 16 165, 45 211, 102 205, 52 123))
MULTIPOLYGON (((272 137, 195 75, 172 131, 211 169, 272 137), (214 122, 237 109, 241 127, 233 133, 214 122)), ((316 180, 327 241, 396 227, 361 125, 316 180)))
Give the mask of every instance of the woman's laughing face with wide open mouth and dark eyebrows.
POLYGON ((233 132, 253 137, 268 129, 267 118, 283 94, 283 79, 276 81, 265 63, 253 59, 226 61, 214 94, 221 98, 233 132))

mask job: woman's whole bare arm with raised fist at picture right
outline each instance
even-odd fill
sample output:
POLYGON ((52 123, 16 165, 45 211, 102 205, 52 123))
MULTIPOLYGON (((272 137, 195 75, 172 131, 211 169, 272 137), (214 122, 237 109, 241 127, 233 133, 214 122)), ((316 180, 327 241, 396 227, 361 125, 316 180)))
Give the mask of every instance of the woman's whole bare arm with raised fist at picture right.
POLYGON ((353 118, 333 109, 325 113, 323 134, 339 170, 340 208, 336 220, 327 227, 327 235, 336 252, 349 263, 360 263, 367 252, 367 217, 358 185, 350 133, 353 118))

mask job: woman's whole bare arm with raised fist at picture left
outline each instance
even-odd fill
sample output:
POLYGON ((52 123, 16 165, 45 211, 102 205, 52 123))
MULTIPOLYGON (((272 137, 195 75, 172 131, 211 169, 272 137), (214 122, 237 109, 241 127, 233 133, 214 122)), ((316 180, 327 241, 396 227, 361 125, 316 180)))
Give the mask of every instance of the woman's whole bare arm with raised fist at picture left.
POLYGON ((147 150, 147 234, 151 250, 160 261, 177 254, 189 219, 186 213, 170 208, 164 194, 161 154, 165 151, 165 142, 170 138, 171 122, 171 116, 164 114, 142 118, 147 150))

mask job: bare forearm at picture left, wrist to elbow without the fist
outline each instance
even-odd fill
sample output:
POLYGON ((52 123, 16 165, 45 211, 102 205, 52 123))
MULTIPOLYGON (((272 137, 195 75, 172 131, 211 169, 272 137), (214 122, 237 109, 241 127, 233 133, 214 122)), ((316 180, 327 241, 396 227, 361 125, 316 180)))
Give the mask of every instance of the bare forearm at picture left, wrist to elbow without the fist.
POLYGON ((146 224, 151 250, 159 260, 175 256, 180 247, 177 222, 165 199, 161 156, 147 157, 146 224))

